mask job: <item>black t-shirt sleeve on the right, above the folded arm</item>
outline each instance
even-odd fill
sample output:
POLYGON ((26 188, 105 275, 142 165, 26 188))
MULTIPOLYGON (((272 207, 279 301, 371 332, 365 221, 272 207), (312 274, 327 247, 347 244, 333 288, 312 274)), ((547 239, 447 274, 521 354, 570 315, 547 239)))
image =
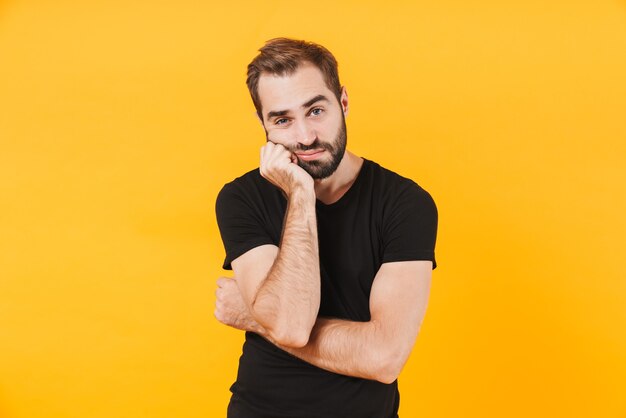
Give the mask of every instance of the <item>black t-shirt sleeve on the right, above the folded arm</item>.
POLYGON ((415 183, 390 202, 383 224, 383 263, 430 260, 433 269, 437 239, 437 206, 415 183))

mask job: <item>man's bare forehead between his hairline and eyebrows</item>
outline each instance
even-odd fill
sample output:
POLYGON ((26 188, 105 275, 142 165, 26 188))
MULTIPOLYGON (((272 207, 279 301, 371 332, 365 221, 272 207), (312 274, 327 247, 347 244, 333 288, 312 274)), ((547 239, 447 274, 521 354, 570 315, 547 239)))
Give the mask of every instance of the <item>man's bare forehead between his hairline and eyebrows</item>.
POLYGON ((289 75, 261 74, 258 94, 265 115, 270 111, 296 110, 319 94, 334 97, 322 72, 311 64, 303 64, 289 75))

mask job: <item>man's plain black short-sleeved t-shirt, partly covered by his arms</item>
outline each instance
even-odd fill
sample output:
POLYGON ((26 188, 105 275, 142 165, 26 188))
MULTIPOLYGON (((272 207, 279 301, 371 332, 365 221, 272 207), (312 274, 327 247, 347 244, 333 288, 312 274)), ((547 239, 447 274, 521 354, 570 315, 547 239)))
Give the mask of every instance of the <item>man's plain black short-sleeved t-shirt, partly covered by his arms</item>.
MULTIPOLYGON (((217 220, 226 249, 224 268, 260 245, 279 246, 287 201, 252 170, 224 186, 217 220)), ((369 296, 381 264, 435 264, 437 208, 424 189, 364 160, 337 202, 316 204, 321 272, 319 316, 369 321, 369 296)), ((230 418, 393 418, 397 381, 383 384, 310 365, 252 332, 246 333, 230 418)))

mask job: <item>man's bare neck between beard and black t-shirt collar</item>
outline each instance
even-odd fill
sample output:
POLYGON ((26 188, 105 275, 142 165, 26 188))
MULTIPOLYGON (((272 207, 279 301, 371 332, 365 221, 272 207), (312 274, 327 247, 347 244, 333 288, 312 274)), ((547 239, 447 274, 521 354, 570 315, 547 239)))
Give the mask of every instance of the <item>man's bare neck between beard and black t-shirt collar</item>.
POLYGON ((315 180, 315 196, 324 204, 335 203, 350 189, 363 165, 363 159, 346 150, 339 167, 330 176, 315 180))

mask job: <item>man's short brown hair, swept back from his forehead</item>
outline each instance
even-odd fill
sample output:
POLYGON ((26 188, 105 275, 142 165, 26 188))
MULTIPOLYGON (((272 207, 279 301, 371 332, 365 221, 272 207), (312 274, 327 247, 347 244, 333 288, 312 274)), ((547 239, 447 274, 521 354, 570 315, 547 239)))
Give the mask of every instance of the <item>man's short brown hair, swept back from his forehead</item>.
POLYGON ((274 38, 267 41, 259 52, 260 54, 248 64, 246 84, 261 120, 263 120, 263 115, 258 88, 261 75, 263 73, 279 76, 291 75, 305 62, 313 64, 322 72, 326 86, 335 94, 337 101, 341 101, 337 60, 323 46, 296 39, 274 38))

